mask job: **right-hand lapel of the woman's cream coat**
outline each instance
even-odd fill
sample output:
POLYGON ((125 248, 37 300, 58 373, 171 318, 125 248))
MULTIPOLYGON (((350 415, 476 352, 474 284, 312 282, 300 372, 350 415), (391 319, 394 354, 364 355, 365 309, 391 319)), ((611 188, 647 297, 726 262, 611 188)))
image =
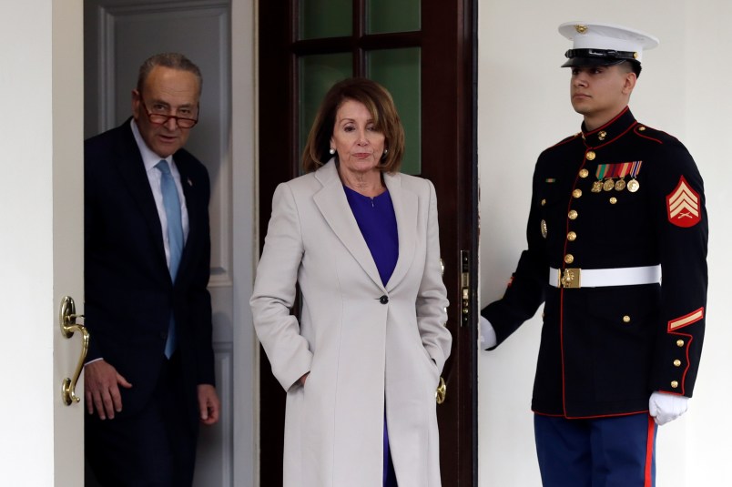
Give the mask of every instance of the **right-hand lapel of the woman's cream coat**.
POLYGON ((386 289, 391 290, 404 279, 412 266, 417 236, 418 200, 417 195, 412 191, 402 188, 402 177, 398 173, 384 174, 384 182, 386 188, 389 189, 391 204, 394 206, 399 235, 399 259, 386 284, 386 289))

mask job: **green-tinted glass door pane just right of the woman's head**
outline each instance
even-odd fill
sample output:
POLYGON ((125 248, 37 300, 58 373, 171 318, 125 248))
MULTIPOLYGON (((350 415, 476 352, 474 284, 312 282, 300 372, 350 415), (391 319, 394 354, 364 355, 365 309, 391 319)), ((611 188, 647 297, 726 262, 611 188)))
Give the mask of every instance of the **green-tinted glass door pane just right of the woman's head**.
POLYGON ((381 83, 394 98, 404 126, 402 172, 422 172, 421 49, 380 49, 367 53, 367 76, 381 83))

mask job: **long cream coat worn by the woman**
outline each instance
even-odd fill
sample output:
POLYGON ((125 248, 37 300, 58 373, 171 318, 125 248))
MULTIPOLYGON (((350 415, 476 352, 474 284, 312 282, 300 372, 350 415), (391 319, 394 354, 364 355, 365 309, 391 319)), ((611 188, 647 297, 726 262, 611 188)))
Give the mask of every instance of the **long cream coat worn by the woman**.
POLYGON ((332 159, 274 194, 250 304, 287 391, 286 487, 380 486, 384 403, 400 487, 441 485, 435 389, 452 338, 437 203, 426 179, 384 180, 399 232, 385 287, 332 159))

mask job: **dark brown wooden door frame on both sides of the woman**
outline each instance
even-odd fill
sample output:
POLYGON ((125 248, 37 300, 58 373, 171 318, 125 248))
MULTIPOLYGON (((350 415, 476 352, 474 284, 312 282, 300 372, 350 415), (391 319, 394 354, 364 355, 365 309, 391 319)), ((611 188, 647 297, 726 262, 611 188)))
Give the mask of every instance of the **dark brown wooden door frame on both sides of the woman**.
MULTIPOLYGON (((365 0, 354 0, 354 11, 363 12, 365 0)), ((299 137, 293 111, 297 87, 297 56, 290 47, 297 23, 297 0, 287 5, 259 4, 259 25, 267 25, 259 44, 259 248, 263 245, 271 213, 274 188, 299 175, 299 137), (283 12, 286 11, 286 12, 283 12), (291 19, 291 20, 290 20, 291 19), (283 61, 283 59, 286 59, 283 61)), ((441 227, 444 282, 451 306, 448 328, 452 332, 452 356, 443 375, 448 382, 446 401, 438 406, 442 444, 443 479, 453 486, 477 484, 477 276, 478 276, 478 177, 477 177, 477 0, 422 1, 422 31, 416 38, 422 56, 422 107, 441 105, 425 115, 422 127, 440 130, 440 147, 434 137, 422 135, 422 159, 440 164, 422 165, 422 177, 435 185, 441 227), (447 61, 447 62, 446 62, 447 61), (424 73, 429 72, 427 78, 424 73), (445 103, 444 100, 452 100, 445 103), (457 176, 456 176, 457 175, 457 176), (462 185, 456 185, 455 181, 462 185), (452 186, 451 186, 452 185, 452 186), (468 188, 463 190, 463 188, 468 188), (456 215, 460 218, 456 218, 456 215), (468 259, 461 261, 461 250, 468 259), (463 274, 463 270, 465 271, 463 274), (462 288, 467 289, 463 303, 462 288), (467 312, 463 314, 463 309, 467 312), (448 473, 449 472, 449 473, 448 473)), ((354 21, 354 25, 357 24, 354 21)), ((354 31, 358 31, 354 29, 354 31)), ((342 41, 342 40, 341 40, 342 41)), ((373 39, 366 39, 365 43, 373 39)), ((317 47, 306 42, 304 47, 317 47)), ((360 41, 357 41, 357 44, 360 41)), ((364 45, 365 46, 365 45, 364 45)), ((357 46, 362 49, 364 46, 357 46)), ((363 66, 361 51, 354 65, 363 66)), ((424 132, 423 132, 424 134, 424 132)), ((271 374, 269 360, 260 350, 260 471, 262 482, 281 485, 285 393, 271 374)))

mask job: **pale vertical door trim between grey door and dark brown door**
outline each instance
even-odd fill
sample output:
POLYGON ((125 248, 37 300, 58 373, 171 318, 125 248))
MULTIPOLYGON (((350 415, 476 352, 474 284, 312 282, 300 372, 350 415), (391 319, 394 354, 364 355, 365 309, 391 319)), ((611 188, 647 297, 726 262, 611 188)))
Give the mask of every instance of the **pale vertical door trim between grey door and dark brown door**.
POLYGON ((259 341, 249 296, 259 259, 257 148, 257 2, 231 0, 231 154, 234 238, 234 465, 233 485, 259 485, 259 341))

